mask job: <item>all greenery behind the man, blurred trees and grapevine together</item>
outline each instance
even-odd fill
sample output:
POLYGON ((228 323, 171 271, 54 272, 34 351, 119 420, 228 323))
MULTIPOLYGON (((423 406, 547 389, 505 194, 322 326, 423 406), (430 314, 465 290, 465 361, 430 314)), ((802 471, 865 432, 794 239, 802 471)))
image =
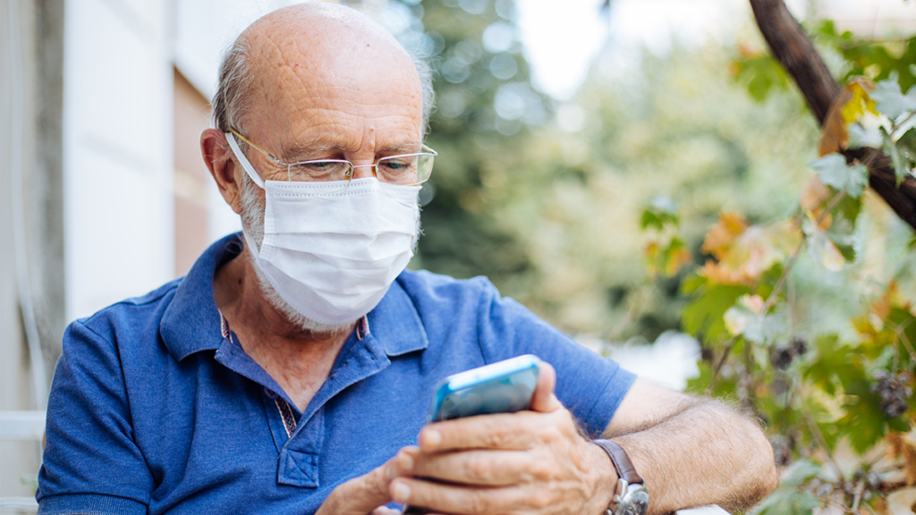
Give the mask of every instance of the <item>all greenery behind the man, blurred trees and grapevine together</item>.
POLYGON ((913 231, 865 185, 879 150, 911 174, 916 39, 807 20, 851 98, 836 123, 855 137, 828 143, 865 148, 847 166, 818 159, 820 127, 749 14, 732 46, 627 70, 605 52, 561 104, 530 83, 511 0, 392 5, 439 95, 411 267, 485 275, 573 335, 695 336, 689 389, 767 425, 782 478, 758 511, 912 510, 913 231))

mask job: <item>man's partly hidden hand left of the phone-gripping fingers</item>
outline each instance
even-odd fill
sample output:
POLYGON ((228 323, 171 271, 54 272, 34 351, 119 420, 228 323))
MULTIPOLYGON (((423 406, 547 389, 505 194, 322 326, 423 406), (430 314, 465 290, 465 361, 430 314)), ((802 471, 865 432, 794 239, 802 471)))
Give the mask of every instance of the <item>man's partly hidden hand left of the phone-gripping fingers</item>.
POLYGON ((398 515, 383 504, 391 500, 391 480, 403 474, 395 458, 365 476, 354 477, 334 488, 315 515, 398 515))

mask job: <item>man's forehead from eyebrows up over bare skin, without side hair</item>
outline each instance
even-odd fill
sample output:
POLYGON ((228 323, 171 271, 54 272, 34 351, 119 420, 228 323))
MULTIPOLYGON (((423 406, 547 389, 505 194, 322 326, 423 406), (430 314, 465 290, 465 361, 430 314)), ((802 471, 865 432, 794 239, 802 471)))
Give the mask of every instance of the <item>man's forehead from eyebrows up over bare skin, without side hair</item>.
POLYGON ((251 137, 353 149, 367 139, 375 145, 420 140, 420 79, 384 29, 353 16, 281 19, 257 28, 250 35, 245 115, 251 137))

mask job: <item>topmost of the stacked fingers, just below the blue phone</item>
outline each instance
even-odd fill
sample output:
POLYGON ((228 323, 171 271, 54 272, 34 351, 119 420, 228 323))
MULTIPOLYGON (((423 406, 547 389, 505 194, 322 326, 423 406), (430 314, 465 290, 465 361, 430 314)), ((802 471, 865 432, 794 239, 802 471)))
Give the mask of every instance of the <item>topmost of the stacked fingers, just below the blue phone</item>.
POLYGON ((537 443, 532 429, 544 425, 544 415, 533 411, 479 415, 435 422, 417 438, 424 453, 459 449, 524 450, 537 443))

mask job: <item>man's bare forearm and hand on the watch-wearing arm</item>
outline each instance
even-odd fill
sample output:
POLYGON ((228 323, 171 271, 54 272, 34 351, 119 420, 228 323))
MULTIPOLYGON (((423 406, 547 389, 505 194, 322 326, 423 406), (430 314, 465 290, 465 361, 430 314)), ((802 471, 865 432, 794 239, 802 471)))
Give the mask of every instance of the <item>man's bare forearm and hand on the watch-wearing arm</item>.
MULTIPOLYGON (((436 422, 396 457, 391 496, 442 513, 605 513, 616 472, 541 370, 532 411, 436 422), (440 482, 424 479, 433 477, 440 482)), ((646 480, 649 513, 747 506, 776 484, 758 425, 711 400, 637 380, 608 425, 646 480)))

